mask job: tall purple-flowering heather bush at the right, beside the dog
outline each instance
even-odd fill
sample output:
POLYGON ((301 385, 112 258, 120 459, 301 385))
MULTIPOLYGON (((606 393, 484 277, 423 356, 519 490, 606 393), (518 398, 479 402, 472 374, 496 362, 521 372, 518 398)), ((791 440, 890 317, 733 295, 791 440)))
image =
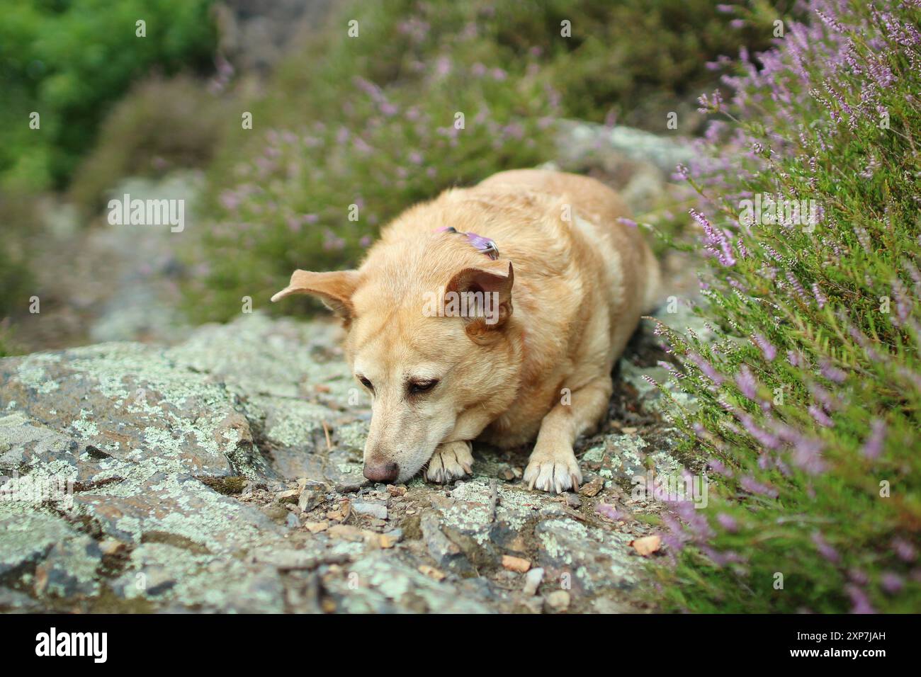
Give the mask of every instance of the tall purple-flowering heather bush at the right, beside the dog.
POLYGON ((679 168, 713 336, 658 330, 710 479, 668 520, 676 610, 921 610, 921 4, 808 9, 679 168))

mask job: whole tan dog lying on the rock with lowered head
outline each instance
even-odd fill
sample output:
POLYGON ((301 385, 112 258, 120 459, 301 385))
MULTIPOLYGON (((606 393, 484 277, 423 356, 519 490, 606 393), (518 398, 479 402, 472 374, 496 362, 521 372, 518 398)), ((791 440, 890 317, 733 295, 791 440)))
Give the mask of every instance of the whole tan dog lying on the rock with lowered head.
POLYGON ((525 483, 577 490, 573 445, 607 412, 614 363, 659 290, 626 214, 600 181, 503 171, 403 212, 357 270, 291 275, 273 301, 310 294, 344 321, 372 400, 367 479, 426 466, 447 483, 471 473, 474 439, 533 441, 525 483))

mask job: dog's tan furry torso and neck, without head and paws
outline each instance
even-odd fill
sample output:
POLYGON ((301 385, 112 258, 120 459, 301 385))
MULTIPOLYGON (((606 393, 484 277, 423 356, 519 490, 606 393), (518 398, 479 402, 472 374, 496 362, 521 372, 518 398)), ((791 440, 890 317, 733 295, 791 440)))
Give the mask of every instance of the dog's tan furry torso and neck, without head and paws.
POLYGON ((659 264, 627 210, 600 181, 562 172, 517 169, 472 188, 452 189, 394 220, 369 252, 400 279, 404 302, 449 270, 483 254, 443 228, 495 240, 514 264, 513 327, 526 358, 516 403, 486 431, 499 446, 533 438, 561 388, 576 390, 610 374, 640 315, 658 293, 659 264))

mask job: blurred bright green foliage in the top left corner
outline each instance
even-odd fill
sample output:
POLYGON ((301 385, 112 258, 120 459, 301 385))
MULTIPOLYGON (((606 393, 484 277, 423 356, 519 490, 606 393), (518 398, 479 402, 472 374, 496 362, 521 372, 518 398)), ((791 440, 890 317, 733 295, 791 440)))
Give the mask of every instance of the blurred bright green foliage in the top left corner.
POLYGON ((132 81, 211 64, 211 0, 0 0, 0 189, 64 186, 132 81), (146 37, 135 22, 146 21, 146 37), (31 112, 41 128, 29 128, 31 112))

